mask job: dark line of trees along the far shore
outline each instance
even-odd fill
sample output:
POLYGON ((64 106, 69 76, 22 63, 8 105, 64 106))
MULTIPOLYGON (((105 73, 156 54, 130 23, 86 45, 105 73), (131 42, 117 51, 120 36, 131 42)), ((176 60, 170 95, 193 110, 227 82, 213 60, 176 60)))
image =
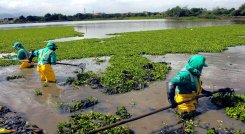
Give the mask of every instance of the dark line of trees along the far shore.
POLYGON ((168 9, 165 12, 140 12, 140 13, 77 13, 75 15, 63 15, 63 14, 50 14, 47 13, 44 16, 20 16, 14 22, 25 23, 25 22, 50 22, 50 21, 78 21, 78 20, 89 20, 89 19, 123 19, 127 17, 200 17, 215 19, 218 17, 226 16, 245 16, 245 3, 242 4, 238 9, 231 8, 215 8, 213 10, 207 10, 205 8, 187 8, 176 6, 168 9))

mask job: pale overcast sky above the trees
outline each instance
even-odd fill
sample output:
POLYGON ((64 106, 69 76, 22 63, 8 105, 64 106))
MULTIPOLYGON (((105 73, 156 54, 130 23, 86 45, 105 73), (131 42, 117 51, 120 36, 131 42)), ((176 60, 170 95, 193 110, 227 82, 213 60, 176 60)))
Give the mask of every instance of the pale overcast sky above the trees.
POLYGON ((238 8, 245 0, 0 0, 0 14, 45 15, 62 13, 74 15, 83 13, 125 13, 159 12, 175 6, 238 8))

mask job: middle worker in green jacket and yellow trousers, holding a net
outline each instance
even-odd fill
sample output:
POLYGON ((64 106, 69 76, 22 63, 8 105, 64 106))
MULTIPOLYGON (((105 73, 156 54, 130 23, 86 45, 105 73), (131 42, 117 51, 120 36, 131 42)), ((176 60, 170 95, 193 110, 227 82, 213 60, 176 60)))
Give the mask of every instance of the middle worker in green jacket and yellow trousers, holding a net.
POLYGON ((51 65, 56 64, 55 50, 57 48, 54 42, 49 41, 45 48, 33 51, 29 58, 29 62, 31 62, 34 57, 38 57, 37 71, 43 81, 56 82, 56 77, 51 65))

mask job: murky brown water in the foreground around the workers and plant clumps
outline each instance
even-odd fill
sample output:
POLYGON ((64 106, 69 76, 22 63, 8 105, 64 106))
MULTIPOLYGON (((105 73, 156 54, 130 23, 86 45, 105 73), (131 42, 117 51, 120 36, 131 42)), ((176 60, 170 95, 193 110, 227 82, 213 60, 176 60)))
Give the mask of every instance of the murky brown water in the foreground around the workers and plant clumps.
MULTIPOLYGON (((220 87, 232 87, 237 92, 244 93, 245 80, 245 46, 229 48, 222 53, 202 53, 207 58, 209 67, 203 70, 203 87, 213 91, 220 87)), ((171 79, 186 63, 191 55, 188 54, 167 54, 164 56, 145 57, 155 62, 171 63, 172 70, 168 74, 167 80, 171 79)), ((80 60, 69 60, 73 64, 86 63, 86 71, 104 71, 109 66, 110 57, 102 57, 106 61, 100 65, 95 64, 95 58, 80 60)), ((166 96, 166 81, 153 82, 149 88, 141 91, 132 91, 119 95, 106 95, 97 89, 81 87, 76 89, 69 86, 59 86, 49 84, 43 87, 39 81, 36 69, 18 70, 18 66, 0 67, 0 102, 10 106, 13 110, 20 112, 22 116, 30 122, 43 128, 47 133, 56 132, 57 123, 68 119, 69 114, 61 114, 57 109, 57 103, 61 101, 72 101, 94 96, 99 99, 99 104, 89 108, 83 113, 91 110, 102 113, 116 112, 117 106, 126 106, 133 117, 151 112, 161 107, 168 106, 166 96), (25 78, 6 81, 8 75, 23 74, 25 78), (39 88, 43 96, 35 96, 34 89, 39 88)), ((64 81, 68 76, 75 76, 73 71, 79 70, 76 67, 56 65, 53 66, 58 82, 64 81)), ((208 124, 208 127, 218 126, 218 121, 223 121, 223 127, 234 127, 245 131, 245 124, 227 117, 223 110, 216 110, 207 98, 200 99, 198 111, 202 114, 197 117, 201 123, 208 124), (217 121, 218 120, 218 121, 217 121)), ((177 124, 175 114, 171 110, 163 111, 155 115, 143 118, 132 123, 128 123, 136 133, 160 132, 162 124, 175 126, 177 124)), ((196 129, 199 133, 205 133, 202 127, 196 129)))

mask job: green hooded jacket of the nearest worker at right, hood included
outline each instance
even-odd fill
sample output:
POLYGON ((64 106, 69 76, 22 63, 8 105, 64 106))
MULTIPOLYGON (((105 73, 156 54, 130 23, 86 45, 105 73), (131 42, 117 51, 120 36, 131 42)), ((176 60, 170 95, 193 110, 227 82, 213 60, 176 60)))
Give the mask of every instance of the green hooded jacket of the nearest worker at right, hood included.
POLYGON ((178 74, 171 79, 177 83, 176 92, 179 94, 192 94, 198 89, 198 79, 201 76, 203 67, 207 67, 205 57, 202 55, 192 56, 188 63, 178 74))

